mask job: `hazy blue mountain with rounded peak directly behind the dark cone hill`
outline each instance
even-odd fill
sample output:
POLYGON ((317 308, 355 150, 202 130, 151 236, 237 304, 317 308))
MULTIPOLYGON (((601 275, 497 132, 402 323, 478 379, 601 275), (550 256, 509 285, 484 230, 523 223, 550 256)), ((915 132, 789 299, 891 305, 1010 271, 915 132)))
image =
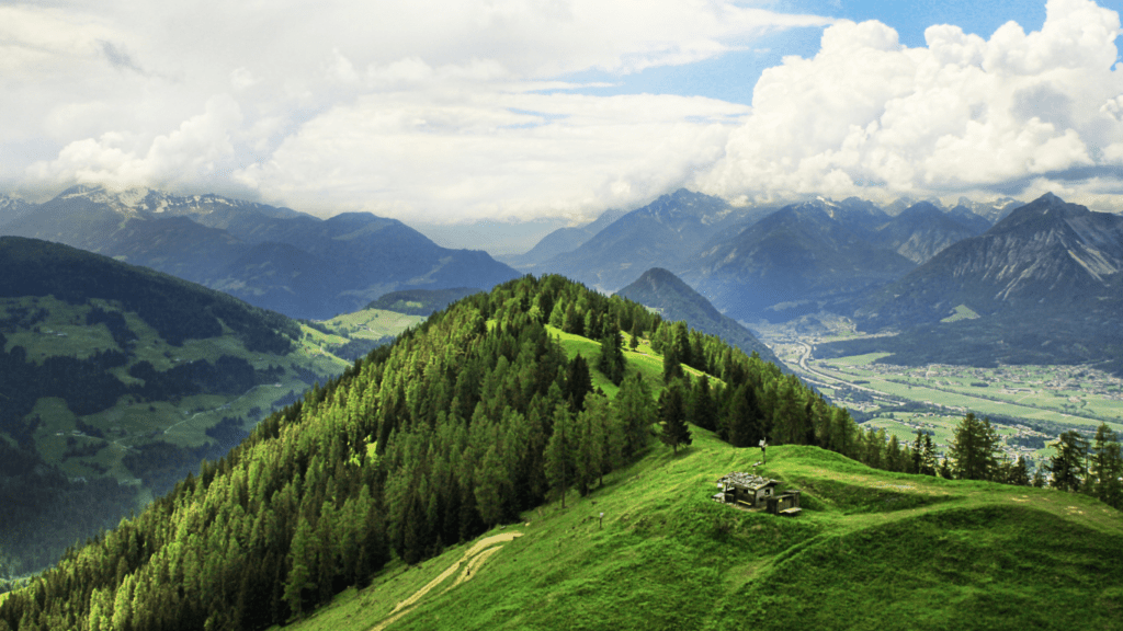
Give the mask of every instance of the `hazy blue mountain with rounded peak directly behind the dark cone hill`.
POLYGON ((621 217, 577 249, 544 263, 540 272, 617 291, 643 269, 681 268, 723 230, 767 212, 733 208, 720 198, 681 189, 621 217))

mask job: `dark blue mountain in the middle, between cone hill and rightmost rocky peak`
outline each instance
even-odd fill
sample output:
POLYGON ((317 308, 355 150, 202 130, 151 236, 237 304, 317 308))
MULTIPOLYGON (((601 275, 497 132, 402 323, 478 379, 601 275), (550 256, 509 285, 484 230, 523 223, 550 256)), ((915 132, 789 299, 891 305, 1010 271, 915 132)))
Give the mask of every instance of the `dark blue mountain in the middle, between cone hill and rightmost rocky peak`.
POLYGON ((787 205, 701 250, 679 275, 732 318, 783 321, 914 267, 831 213, 847 209, 827 200, 787 205))

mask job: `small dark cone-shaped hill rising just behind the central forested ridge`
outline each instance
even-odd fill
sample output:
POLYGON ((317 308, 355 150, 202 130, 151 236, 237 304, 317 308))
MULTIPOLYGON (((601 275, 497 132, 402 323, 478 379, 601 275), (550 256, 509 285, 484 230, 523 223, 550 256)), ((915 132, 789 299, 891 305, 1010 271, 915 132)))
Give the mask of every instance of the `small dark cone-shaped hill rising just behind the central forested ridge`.
POLYGON ((722 316, 702 294, 660 267, 652 267, 617 295, 659 310, 664 319, 685 320, 692 328, 718 336, 745 353, 757 353, 765 362, 784 364, 764 342, 732 318, 722 316))

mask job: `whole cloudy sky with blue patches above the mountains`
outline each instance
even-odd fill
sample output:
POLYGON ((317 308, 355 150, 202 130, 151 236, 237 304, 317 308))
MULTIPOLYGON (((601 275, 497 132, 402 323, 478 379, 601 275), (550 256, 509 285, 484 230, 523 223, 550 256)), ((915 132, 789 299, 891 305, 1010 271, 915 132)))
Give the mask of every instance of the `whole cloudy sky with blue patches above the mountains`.
POLYGON ((446 234, 682 186, 734 203, 1053 191, 1120 211, 1121 10, 0 0, 0 191, 217 192, 446 234))

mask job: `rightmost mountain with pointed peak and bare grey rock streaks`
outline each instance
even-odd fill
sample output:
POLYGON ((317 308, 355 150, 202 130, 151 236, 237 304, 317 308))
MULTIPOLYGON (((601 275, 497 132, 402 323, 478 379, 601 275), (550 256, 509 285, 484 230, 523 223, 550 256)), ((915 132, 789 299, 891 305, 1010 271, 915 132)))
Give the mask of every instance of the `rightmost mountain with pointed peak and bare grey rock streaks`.
POLYGON ((1108 360, 1123 371, 1121 271, 1123 217, 1049 193, 875 292, 856 319, 902 331, 877 344, 915 362, 1108 360))

